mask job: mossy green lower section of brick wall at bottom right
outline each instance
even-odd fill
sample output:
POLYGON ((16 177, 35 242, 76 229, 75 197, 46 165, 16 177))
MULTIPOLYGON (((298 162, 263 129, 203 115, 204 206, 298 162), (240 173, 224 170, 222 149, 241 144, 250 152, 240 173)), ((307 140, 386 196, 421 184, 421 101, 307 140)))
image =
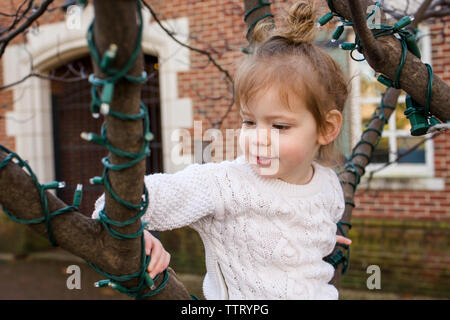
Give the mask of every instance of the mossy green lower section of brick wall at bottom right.
POLYGON ((368 290, 367 267, 378 265, 383 292, 450 297, 448 222, 352 219, 352 226, 343 288, 368 290))

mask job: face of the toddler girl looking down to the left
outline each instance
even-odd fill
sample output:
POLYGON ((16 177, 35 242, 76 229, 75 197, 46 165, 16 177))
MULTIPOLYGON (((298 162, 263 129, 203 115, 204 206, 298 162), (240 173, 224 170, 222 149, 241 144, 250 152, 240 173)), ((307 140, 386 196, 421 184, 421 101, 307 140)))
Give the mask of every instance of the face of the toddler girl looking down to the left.
POLYGON ((239 143, 247 161, 261 176, 306 184, 312 178, 311 163, 320 147, 319 135, 316 121, 303 102, 292 103, 295 110, 289 111, 282 105, 276 87, 258 93, 241 110, 239 143))

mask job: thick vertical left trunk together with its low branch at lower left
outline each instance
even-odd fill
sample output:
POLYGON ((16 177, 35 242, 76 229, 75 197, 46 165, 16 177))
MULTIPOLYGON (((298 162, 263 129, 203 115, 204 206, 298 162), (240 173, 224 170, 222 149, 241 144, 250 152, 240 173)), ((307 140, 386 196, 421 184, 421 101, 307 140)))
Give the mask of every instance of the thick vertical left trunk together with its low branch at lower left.
MULTIPOLYGON (((100 55, 111 43, 118 46, 117 58, 113 67, 120 69, 128 60, 136 45, 138 25, 137 4, 135 0, 95 0, 94 37, 100 55), (120 23, 118 23, 120 19, 120 23)), ((103 78, 98 66, 94 63, 95 74, 103 78)), ((140 76, 143 70, 142 52, 130 74, 140 76)), ((136 114, 140 112, 141 86, 120 81, 116 84, 111 109, 136 114)), ((88 108, 86 108, 86 112, 88 108)), ((106 117, 108 140, 121 150, 138 152, 143 143, 143 125, 141 121, 121 121, 106 117)), ((5 158, 0 152, 0 161, 5 158)), ((121 164, 127 159, 114 155, 110 157, 112 164, 121 164)), ((100 174, 100 173, 99 173, 100 174)), ((139 203, 143 191, 145 161, 123 171, 109 171, 109 179, 113 190, 124 200, 139 203)), ((50 212, 66 206, 60 199, 46 192, 50 212)), ((151 195, 150 195, 151 197, 151 195)), ((151 200, 150 200, 151 201, 151 200)), ((32 179, 19 166, 8 164, 0 170, 0 203, 14 216, 21 219, 34 219, 44 215, 40 198, 32 179)), ((111 219, 125 221, 136 215, 135 211, 121 206, 106 193, 106 211, 111 219)), ((109 235, 97 221, 79 212, 59 215, 51 221, 56 242, 67 251, 98 266, 101 270, 114 275, 131 274, 141 267, 141 240, 117 240, 109 235)), ((141 226, 140 220, 121 228, 122 233, 134 233, 141 226)), ((46 236, 44 224, 31 225, 31 228, 46 236)), ((153 299, 190 299, 183 284, 169 269, 170 277, 164 290, 153 299)), ((156 285, 162 281, 159 277, 156 285)), ((124 285, 135 286, 137 279, 124 285)))

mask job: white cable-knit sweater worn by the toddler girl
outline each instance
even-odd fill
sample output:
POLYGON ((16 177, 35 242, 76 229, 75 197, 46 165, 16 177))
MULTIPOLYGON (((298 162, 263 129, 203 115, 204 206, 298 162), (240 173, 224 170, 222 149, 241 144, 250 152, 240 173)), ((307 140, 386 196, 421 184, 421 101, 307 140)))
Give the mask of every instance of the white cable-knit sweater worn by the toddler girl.
MULTIPOLYGON (((336 173, 313 163, 305 185, 259 176, 244 156, 145 177, 150 229, 190 226, 201 236, 206 299, 338 299, 322 260, 345 202, 336 173)), ((93 218, 103 208, 95 203, 93 218)))

